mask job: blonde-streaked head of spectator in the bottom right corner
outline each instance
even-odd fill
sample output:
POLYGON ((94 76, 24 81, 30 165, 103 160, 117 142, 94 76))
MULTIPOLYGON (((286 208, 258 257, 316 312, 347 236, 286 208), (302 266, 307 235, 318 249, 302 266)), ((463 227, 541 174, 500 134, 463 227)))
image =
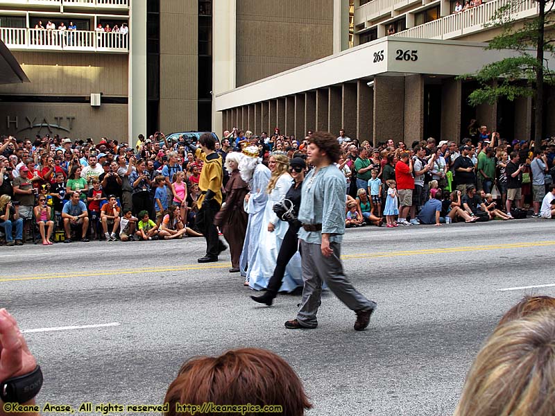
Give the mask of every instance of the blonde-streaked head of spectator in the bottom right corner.
POLYGON ((454 416, 552 416, 555 312, 498 326, 478 353, 454 416))

